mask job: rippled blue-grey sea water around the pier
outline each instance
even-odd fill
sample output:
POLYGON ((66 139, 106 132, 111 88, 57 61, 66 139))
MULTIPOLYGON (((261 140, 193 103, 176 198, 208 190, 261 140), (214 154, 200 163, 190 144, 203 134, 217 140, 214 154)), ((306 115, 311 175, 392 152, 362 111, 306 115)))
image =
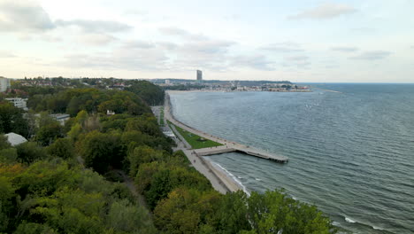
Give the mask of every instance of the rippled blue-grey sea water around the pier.
POLYGON ((354 233, 414 233, 414 85, 318 84, 311 93, 171 94, 196 129, 289 157, 207 157, 250 191, 284 188, 354 233))

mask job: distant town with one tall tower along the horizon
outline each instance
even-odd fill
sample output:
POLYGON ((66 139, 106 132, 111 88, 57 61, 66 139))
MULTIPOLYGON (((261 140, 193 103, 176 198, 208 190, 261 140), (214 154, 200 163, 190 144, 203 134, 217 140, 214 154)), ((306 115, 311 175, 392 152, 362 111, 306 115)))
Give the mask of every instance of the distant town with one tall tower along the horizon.
MULTIPOLYGON (((105 90, 125 90, 134 81, 152 82, 164 90, 215 90, 215 91, 272 91, 272 92, 309 92, 308 86, 300 86, 288 81, 219 81, 203 80, 203 72, 196 70, 195 80, 186 79, 119 79, 119 78, 64 78, 33 77, 24 79, 8 79, 0 76, 0 92, 19 94, 21 86, 33 87, 65 87, 65 88, 97 88, 105 90), (15 84, 15 85, 12 85, 15 84)), ((17 100, 11 100, 16 102, 17 100)), ((20 105, 20 104, 19 104, 20 105)))

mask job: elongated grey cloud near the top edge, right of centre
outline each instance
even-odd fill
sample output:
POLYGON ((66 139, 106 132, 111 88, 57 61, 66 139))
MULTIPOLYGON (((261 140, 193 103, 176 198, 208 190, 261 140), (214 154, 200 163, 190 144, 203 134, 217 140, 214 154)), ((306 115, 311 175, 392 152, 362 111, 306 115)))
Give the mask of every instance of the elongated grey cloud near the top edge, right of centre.
POLYGON ((288 17, 288 19, 290 20, 298 20, 298 19, 325 20, 325 19, 333 19, 335 17, 349 14, 349 13, 354 13, 354 12, 357 12, 357 10, 348 4, 326 3, 326 4, 321 4, 315 8, 297 13, 295 15, 291 15, 288 17))

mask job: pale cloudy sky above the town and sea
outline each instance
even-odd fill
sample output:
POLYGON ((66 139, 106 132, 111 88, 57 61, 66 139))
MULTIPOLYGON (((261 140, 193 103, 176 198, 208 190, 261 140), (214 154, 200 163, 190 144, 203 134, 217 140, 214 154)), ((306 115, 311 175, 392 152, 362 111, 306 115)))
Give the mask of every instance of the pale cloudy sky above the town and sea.
POLYGON ((414 82, 411 0, 0 0, 0 75, 414 82))

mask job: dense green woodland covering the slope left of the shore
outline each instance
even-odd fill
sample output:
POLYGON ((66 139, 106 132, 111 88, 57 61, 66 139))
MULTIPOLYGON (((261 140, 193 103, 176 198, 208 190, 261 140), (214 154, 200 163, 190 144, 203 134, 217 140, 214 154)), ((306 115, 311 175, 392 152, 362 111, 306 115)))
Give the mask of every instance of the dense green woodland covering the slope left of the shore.
POLYGON ((149 105, 162 102, 164 91, 149 82, 25 92, 25 117, 0 101, 0 132, 29 138, 12 147, 0 135, 0 233, 336 231, 317 207, 283 191, 214 191, 159 129, 149 105), (61 126, 49 113, 72 118, 61 126))

